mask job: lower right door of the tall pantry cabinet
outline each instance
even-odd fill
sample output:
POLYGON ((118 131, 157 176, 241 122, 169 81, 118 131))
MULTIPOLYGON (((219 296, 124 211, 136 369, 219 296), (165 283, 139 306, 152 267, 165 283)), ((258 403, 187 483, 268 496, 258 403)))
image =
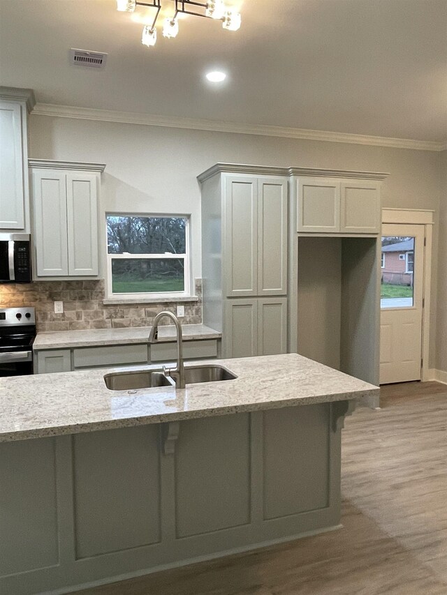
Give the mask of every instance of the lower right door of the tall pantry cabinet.
POLYGON ((287 353, 287 298, 258 301, 258 355, 287 353))

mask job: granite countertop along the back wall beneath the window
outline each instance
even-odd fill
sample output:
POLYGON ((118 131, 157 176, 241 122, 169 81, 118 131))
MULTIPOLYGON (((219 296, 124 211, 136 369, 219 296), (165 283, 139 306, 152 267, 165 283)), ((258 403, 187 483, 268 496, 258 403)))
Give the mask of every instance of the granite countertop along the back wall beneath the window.
MULTIPOLYGON (((152 326, 131 326, 126 329, 91 329, 89 331, 54 331, 37 333, 33 349, 70 349, 99 345, 130 345, 147 343, 152 326)), ((205 324, 183 324, 183 340, 219 339, 221 333, 205 324)), ((175 326, 159 326, 159 341, 175 341, 175 326)))

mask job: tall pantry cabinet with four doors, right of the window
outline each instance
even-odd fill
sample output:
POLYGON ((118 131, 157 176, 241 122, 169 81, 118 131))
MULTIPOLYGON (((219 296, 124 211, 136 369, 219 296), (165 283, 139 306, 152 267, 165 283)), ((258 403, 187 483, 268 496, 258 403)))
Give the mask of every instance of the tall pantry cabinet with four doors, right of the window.
POLYGON ((286 353, 287 178, 217 166, 198 179, 204 323, 223 333, 223 357, 286 353))

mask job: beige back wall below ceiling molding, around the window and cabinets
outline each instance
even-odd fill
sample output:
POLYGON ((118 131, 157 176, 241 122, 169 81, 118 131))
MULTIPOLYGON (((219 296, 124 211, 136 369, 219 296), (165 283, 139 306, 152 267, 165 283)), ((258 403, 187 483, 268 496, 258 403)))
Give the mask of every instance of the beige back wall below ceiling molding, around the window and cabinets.
MULTIPOLYGON (((33 158, 105 163, 102 218, 106 211, 191 214, 194 278, 201 277, 196 176, 218 161, 390 172, 383 183, 383 206, 439 208, 439 153, 433 151, 31 114, 29 153, 33 158)), ((434 262, 436 243, 435 226, 434 262)), ((436 287, 435 267, 432 272, 436 287)), ((432 295, 435 312, 436 292, 432 295)), ((433 332, 432 358, 434 342, 433 332)))

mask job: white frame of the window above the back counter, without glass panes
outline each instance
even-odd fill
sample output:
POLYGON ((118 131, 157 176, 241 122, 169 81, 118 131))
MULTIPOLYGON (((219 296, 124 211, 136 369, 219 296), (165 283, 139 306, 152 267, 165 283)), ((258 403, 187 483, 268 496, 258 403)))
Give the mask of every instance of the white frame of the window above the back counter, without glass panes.
POLYGON ((106 288, 107 288, 107 300, 126 302, 136 300, 143 302, 160 302, 169 299, 170 301, 182 301, 184 298, 190 298, 191 295, 191 215, 184 213, 129 213, 129 212, 106 212, 105 213, 105 277, 106 277, 106 288), (108 251, 108 234, 107 234, 107 220, 108 217, 141 217, 141 218, 178 218, 185 220, 185 250, 184 254, 109 254, 108 251), (159 260, 159 259, 183 259, 184 262, 184 291, 182 292, 129 292, 129 293, 114 293, 112 291, 112 260, 114 259, 140 259, 140 260, 159 260))

